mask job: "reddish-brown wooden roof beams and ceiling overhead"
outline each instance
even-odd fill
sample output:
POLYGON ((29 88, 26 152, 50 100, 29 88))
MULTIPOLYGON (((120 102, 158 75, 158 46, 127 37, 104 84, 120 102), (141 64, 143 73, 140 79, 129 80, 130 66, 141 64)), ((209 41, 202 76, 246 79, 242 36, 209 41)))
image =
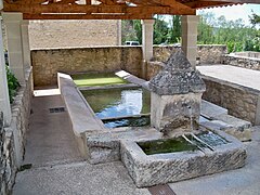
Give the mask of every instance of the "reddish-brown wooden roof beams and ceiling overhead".
POLYGON ((3 0, 3 11, 22 12, 25 20, 145 20, 240 3, 260 0, 3 0))

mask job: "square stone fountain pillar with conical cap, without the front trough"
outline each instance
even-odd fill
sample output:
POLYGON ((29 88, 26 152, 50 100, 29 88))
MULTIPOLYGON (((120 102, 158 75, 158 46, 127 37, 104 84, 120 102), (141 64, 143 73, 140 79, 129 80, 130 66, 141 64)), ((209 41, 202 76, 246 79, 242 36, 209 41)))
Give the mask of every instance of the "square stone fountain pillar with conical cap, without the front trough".
POLYGON ((191 132, 197 127, 206 87, 182 51, 170 56, 165 68, 151 79, 150 89, 153 127, 166 136, 191 132))

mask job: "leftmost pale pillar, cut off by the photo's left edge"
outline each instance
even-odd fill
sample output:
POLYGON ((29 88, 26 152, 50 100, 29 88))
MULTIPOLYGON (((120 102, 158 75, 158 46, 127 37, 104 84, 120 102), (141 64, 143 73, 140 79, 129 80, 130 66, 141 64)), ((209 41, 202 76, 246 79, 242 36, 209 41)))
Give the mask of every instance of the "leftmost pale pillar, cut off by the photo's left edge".
MULTIPOLYGON (((2 26, 1 20, 0 26, 2 26)), ((9 126, 11 122, 11 107, 9 102, 2 30, 0 30, 0 112, 3 113, 4 126, 9 126)))

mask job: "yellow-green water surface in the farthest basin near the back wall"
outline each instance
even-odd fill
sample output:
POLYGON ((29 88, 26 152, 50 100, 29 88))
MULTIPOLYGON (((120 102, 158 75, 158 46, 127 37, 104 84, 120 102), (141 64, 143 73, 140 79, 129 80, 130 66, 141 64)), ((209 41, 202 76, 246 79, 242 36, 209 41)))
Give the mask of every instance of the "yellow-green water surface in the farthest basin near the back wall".
POLYGON ((128 83, 127 80, 114 74, 80 74, 72 76, 74 82, 78 87, 92 87, 92 86, 107 86, 107 84, 123 84, 128 83))

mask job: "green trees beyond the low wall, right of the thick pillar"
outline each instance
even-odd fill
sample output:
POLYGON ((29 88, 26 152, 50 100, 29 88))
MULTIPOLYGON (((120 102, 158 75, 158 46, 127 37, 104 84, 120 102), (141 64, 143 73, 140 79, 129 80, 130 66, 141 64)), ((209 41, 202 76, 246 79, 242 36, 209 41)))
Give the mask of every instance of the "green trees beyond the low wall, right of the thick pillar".
POLYGON ((260 31, 245 26, 239 18, 227 21, 224 16, 218 18, 212 13, 203 13, 198 24, 198 43, 226 44, 227 52, 260 51, 260 31))

